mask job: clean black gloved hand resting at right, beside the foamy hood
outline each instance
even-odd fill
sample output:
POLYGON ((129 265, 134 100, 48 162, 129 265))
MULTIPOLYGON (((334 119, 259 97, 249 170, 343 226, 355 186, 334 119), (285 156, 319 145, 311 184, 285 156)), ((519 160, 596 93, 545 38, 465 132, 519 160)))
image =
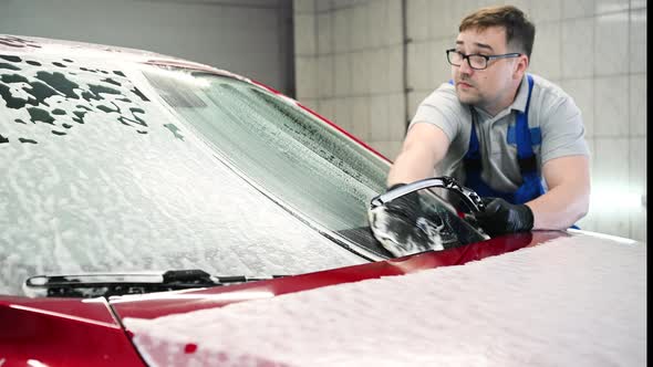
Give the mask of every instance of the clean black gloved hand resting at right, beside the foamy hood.
POLYGON ((485 211, 466 216, 489 235, 530 231, 533 216, 526 205, 512 205, 501 198, 481 198, 485 211))

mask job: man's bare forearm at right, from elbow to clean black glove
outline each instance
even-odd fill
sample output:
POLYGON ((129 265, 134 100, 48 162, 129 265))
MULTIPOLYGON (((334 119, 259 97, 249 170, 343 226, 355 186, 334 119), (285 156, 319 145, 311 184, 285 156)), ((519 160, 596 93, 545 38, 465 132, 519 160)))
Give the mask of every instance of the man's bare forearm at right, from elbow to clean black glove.
POLYGON ((589 209, 589 187, 558 186, 527 202, 533 213, 533 229, 563 230, 584 217, 589 209))

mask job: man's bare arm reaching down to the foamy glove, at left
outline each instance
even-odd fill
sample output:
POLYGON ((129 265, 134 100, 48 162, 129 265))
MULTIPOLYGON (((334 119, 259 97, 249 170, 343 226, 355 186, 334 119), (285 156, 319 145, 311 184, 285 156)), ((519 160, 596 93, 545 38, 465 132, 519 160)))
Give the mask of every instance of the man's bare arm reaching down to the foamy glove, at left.
POLYGON ((432 177, 435 165, 444 158, 449 144, 449 138, 439 127, 426 123, 413 125, 390 169, 387 187, 432 177))

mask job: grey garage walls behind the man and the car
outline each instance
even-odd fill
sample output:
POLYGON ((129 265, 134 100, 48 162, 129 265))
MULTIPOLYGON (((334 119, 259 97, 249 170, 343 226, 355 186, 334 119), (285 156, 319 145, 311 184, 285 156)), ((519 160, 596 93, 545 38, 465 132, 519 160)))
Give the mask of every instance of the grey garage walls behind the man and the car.
POLYGON ((537 33, 530 72, 583 114, 592 154, 581 229, 646 239, 646 1, 4 0, 2 33, 144 49, 246 75, 390 159, 444 50, 480 6, 510 3, 537 33))

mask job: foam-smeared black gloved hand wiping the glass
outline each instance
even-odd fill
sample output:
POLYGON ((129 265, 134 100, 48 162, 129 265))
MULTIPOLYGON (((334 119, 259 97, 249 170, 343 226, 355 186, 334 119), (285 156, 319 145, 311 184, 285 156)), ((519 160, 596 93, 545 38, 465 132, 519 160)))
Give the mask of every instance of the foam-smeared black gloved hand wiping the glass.
MULTIPOLYGON (((403 186, 397 184, 388 191, 403 186)), ((395 256, 404 256, 427 250, 443 250, 438 226, 439 218, 424 212, 417 192, 391 200, 367 212, 372 233, 383 248, 395 256)))

